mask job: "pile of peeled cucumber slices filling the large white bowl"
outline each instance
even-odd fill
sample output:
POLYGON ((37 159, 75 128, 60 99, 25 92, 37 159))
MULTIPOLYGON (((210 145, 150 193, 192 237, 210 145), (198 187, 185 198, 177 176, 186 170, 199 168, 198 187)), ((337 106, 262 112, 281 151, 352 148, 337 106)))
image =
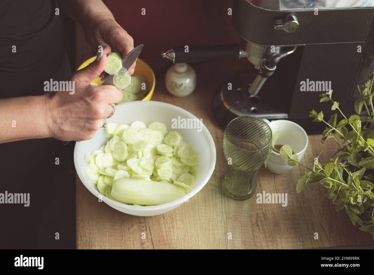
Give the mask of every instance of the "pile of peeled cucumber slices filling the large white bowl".
POLYGON ((158 205, 181 198, 193 190, 199 154, 166 125, 108 123, 109 140, 92 154, 86 153, 86 173, 99 192, 114 201, 158 205), (109 189, 110 188, 110 189, 109 189))

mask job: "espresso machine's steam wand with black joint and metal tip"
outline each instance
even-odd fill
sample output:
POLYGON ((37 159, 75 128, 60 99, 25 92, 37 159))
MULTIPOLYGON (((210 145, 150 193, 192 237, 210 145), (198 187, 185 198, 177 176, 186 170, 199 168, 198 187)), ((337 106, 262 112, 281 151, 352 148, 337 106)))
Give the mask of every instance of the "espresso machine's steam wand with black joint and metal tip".
POLYGON ((255 80, 253 80, 251 86, 248 88, 248 92, 251 95, 257 95, 260 92, 261 87, 264 85, 266 79, 273 75, 279 61, 287 55, 292 54, 296 50, 297 46, 294 46, 288 52, 282 52, 281 54, 273 53, 269 55, 262 63, 259 69, 259 73, 255 80))

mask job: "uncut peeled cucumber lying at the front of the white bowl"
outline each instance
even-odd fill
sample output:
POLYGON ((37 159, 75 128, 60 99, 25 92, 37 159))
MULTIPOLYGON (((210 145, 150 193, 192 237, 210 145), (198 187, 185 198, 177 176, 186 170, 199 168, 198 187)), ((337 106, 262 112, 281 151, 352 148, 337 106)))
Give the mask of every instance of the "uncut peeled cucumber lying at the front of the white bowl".
POLYGON ((111 196, 128 204, 165 204, 186 195, 185 190, 171 183, 120 178, 114 181, 111 196))

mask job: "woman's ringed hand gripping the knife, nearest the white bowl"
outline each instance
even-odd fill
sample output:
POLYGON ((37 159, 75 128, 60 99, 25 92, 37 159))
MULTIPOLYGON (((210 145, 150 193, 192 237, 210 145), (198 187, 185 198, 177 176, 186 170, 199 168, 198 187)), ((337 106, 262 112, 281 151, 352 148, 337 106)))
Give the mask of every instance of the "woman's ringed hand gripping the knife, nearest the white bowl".
POLYGON ((69 91, 50 92, 46 97, 49 136, 62 141, 89 140, 104 125, 112 107, 122 99, 122 92, 113 85, 93 86, 91 81, 104 70, 106 54, 87 67, 71 74, 74 94, 69 91))

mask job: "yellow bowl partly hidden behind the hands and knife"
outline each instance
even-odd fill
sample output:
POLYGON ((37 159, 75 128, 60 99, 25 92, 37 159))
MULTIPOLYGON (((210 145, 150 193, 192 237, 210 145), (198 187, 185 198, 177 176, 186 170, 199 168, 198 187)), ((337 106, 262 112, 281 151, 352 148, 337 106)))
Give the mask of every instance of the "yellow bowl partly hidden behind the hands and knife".
MULTIPOLYGON (((80 64, 77 70, 80 70, 86 67, 88 64, 95 61, 95 59, 96 59, 96 56, 92 56, 91 58, 87 59, 85 62, 80 64)), ((151 67, 149 67, 149 65, 145 63, 142 59, 138 58, 133 76, 144 76, 145 77, 145 79, 147 80, 147 84, 148 86, 151 87, 151 89, 149 90, 148 94, 142 100, 151 100, 153 91, 154 91, 154 86, 156 85, 156 77, 154 77, 154 73, 151 67)), ((98 85, 101 85, 101 78, 95 78, 94 80, 92 80, 92 82, 98 85)))

